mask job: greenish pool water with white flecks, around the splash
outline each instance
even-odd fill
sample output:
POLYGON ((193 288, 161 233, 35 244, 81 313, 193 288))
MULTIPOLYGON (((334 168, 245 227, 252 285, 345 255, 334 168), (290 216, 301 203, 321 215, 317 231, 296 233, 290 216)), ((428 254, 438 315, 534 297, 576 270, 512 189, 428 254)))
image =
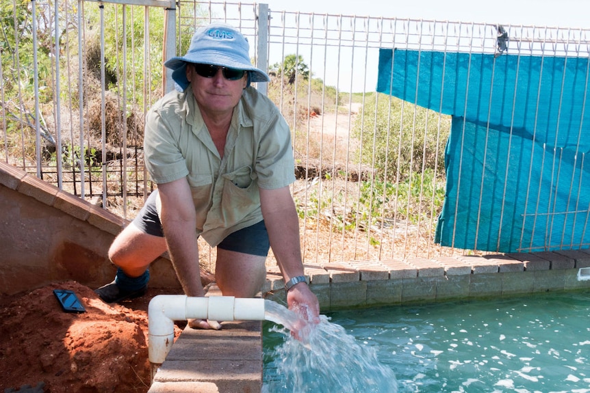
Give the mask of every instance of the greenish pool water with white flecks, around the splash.
MULTIPOLYGON (((327 316, 331 324, 344 328, 344 335, 376 353, 393 371, 400 393, 590 392, 587 292, 389 306, 327 316)), ((264 323, 267 387, 281 379, 274 352, 291 340, 277 325, 264 323)), ((332 340, 333 347, 342 345, 339 338, 332 340)), ((290 359, 280 361, 288 365, 290 359)), ((332 372, 346 375, 349 370, 332 372)), ((285 391, 290 391, 288 386, 285 391)))

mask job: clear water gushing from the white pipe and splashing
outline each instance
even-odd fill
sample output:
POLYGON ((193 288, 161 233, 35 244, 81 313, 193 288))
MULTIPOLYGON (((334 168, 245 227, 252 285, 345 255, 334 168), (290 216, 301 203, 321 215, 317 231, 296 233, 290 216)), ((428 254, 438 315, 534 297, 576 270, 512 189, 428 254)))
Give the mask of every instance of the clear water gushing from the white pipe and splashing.
POLYGON ((265 301, 266 319, 285 340, 272 351, 269 366, 277 368, 279 381, 265 381, 264 393, 273 392, 372 392, 397 393, 394 372, 377 360, 371 347, 360 345, 344 328, 330 323, 309 324, 274 301, 265 301), (296 331, 298 340, 290 331, 296 331))

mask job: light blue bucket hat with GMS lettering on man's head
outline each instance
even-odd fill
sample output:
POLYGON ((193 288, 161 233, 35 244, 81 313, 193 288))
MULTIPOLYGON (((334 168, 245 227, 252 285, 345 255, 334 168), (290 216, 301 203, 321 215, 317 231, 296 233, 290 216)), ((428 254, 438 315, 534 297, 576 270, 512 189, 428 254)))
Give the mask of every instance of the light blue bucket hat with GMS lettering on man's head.
POLYGON ((248 82, 268 82, 270 78, 250 62, 250 45, 240 31, 229 25, 213 23, 199 28, 184 56, 172 57, 164 66, 172 70, 172 79, 183 91, 188 87, 186 64, 213 64, 248 71, 248 82))

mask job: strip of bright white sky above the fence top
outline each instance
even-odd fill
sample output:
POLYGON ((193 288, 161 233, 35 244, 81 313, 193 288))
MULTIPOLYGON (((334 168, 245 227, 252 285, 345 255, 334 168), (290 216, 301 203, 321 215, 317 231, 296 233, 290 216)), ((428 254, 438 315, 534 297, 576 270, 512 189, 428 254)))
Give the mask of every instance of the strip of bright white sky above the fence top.
POLYGON ((270 10, 590 28, 588 0, 259 0, 270 10))

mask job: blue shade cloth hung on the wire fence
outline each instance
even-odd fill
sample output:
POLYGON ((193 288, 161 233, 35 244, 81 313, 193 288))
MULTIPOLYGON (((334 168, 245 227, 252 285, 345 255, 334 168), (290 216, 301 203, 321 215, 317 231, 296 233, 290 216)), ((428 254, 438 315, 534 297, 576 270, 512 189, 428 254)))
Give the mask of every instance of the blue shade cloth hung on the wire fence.
POLYGON ((437 243, 588 247, 588 75, 578 57, 381 49, 378 92, 452 116, 437 243))

